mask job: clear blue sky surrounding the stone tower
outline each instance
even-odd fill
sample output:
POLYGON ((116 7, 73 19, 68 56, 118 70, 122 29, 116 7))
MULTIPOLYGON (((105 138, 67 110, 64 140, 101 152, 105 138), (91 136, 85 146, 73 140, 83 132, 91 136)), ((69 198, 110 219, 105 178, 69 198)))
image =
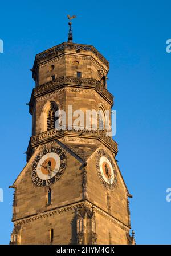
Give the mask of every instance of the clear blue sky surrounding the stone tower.
POLYGON ((74 42, 95 46, 110 62, 108 90, 117 110, 119 167, 133 195, 136 243, 171 243, 170 1, 1 1, 0 243, 9 243, 13 189, 26 164, 31 116, 26 103, 34 81, 35 54, 67 41, 67 14, 74 42))

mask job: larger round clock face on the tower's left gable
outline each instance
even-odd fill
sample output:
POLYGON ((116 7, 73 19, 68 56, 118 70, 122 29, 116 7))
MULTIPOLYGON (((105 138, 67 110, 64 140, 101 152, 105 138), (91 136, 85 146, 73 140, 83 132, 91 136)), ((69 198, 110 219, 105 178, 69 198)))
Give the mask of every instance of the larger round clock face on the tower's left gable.
POLYGON ((40 187, 56 182, 66 168, 66 160, 66 154, 59 147, 43 149, 32 163, 32 181, 40 187))

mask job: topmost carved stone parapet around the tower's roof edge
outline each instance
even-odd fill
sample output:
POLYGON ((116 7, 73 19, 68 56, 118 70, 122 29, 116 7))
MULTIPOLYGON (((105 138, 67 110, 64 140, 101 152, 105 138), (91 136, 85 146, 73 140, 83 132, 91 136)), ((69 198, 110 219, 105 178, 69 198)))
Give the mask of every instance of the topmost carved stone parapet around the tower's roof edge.
POLYGON ((48 50, 36 54, 33 69, 35 70, 36 65, 42 62, 43 60, 48 60, 49 58, 59 56, 60 52, 63 53, 65 50, 75 50, 76 53, 78 51, 92 52, 93 54, 95 54, 97 58, 99 58, 101 62, 103 62, 104 65, 107 66, 107 68, 109 68, 109 62, 103 57, 103 55, 101 55, 101 53, 97 51, 97 49, 94 46, 63 42, 62 44, 56 45, 48 50))

